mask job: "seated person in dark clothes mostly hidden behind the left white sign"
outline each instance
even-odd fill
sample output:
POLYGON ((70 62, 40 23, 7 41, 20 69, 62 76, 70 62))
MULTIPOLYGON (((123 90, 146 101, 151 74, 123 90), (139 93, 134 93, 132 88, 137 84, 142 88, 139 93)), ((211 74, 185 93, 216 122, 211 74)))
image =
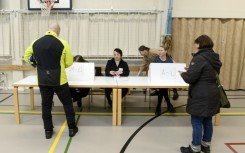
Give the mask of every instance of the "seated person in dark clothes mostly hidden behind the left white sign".
MULTIPOLYGON (((81 55, 74 57, 74 62, 88 62, 81 55)), ((70 88, 71 97, 73 102, 77 101, 77 106, 82 106, 82 98, 86 97, 90 91, 90 88, 70 88)))

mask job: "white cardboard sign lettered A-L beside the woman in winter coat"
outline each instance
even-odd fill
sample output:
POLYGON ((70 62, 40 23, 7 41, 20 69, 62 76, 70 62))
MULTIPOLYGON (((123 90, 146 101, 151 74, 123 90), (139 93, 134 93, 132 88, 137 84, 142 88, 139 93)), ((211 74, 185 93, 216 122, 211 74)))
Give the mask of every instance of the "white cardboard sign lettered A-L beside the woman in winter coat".
POLYGON ((179 71, 185 71, 185 63, 151 63, 148 76, 151 83, 184 83, 179 71))

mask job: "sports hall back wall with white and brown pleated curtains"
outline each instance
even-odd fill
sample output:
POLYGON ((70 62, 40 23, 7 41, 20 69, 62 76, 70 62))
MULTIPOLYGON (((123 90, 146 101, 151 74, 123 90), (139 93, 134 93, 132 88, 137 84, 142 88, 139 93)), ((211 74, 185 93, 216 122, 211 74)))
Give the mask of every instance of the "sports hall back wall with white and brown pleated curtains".
MULTIPOLYGON (((81 54, 103 64, 119 47, 132 65, 140 64, 139 45, 157 48, 166 34, 172 10, 172 49, 176 62, 189 63, 192 44, 200 34, 212 37, 223 67, 226 89, 245 89, 243 0, 73 0, 72 12, 51 11, 50 17, 28 11, 27 1, 0 1, 0 64, 22 65, 25 48, 42 36, 50 22, 61 25, 61 37, 81 54)), ((30 75, 29 71, 5 71, 7 84, 30 75)))

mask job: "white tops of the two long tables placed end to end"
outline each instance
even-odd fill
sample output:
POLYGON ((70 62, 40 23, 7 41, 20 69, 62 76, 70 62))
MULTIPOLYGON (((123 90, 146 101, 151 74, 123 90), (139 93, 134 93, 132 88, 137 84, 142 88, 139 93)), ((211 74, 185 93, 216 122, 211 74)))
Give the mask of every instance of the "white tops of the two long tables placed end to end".
MULTIPOLYGON (((189 85, 184 81, 162 81, 150 82, 148 77, 95 77, 93 81, 69 81, 71 87, 110 87, 110 88, 187 88, 189 85)), ((38 86, 37 76, 28 76, 16 83, 13 86, 34 87, 38 86)))

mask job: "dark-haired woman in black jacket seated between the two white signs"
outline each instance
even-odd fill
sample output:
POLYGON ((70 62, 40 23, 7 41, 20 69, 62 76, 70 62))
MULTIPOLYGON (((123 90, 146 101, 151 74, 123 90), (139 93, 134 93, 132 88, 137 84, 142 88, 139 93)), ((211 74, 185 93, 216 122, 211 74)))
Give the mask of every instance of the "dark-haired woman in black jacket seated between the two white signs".
MULTIPOLYGON (((119 48, 114 49, 113 56, 114 58, 107 61, 106 68, 105 68, 105 75, 128 76, 129 68, 127 62, 122 60, 122 50, 119 48)), ((112 107, 111 92, 112 92, 111 88, 105 88, 105 95, 110 107, 112 107)), ((127 88, 122 88, 122 98, 127 94, 127 92, 128 92, 127 88)))

